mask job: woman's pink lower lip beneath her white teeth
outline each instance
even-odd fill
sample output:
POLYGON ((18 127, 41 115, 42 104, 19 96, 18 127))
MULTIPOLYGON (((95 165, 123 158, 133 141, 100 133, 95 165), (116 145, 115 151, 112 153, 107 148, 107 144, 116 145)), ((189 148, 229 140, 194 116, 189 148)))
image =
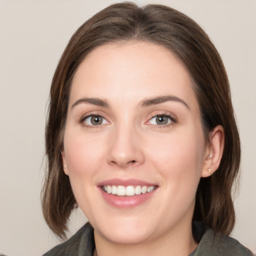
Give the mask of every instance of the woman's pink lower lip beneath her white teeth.
POLYGON ((148 193, 132 195, 132 196, 113 195, 113 194, 106 193, 105 191, 102 190, 101 187, 99 187, 99 189, 101 191, 103 198, 108 204, 116 208, 131 208, 131 207, 138 206, 143 202, 145 202, 146 200, 150 199, 150 197, 154 194, 157 188, 155 188, 154 190, 148 193))

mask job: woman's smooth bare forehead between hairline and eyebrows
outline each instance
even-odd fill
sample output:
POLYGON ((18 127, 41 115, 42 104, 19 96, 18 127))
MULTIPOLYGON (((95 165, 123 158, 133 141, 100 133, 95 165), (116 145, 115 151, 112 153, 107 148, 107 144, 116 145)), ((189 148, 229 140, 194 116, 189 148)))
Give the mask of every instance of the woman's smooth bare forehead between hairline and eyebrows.
POLYGON ((188 103, 196 101, 190 75, 173 53, 160 45, 135 41, 92 50, 74 75, 70 101, 82 96, 118 96, 130 101, 165 94, 188 103))

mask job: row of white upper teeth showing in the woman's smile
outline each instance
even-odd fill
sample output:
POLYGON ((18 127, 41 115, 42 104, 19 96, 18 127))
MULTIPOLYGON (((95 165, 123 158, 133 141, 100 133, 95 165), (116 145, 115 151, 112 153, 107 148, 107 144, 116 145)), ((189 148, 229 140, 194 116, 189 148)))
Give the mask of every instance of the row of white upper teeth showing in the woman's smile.
POLYGON ((115 186, 115 185, 106 185, 103 186, 102 189, 109 193, 109 194, 116 194, 116 195, 128 195, 128 196, 132 196, 134 194, 144 194, 144 193, 149 193, 152 190, 154 190, 154 186, 141 186, 141 185, 137 185, 137 186, 115 186))

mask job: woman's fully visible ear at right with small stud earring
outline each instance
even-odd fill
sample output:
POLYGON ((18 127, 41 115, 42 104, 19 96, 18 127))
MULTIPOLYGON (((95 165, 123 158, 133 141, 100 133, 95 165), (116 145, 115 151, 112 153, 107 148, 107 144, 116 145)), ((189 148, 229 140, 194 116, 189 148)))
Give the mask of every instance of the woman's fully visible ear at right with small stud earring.
POLYGON ((217 125, 209 136, 209 144, 206 146, 204 154, 204 164, 201 177, 208 177, 219 166, 224 148, 224 129, 222 125, 217 125))

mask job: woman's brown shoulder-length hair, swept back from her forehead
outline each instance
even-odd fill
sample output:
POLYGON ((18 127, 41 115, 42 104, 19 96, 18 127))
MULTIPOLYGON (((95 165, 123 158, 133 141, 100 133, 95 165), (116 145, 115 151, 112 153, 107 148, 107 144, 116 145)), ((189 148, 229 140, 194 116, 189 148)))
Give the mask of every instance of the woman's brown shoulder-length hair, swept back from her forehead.
POLYGON ((72 77, 95 47, 126 40, 162 45, 186 65, 193 79, 205 141, 216 125, 223 126, 223 156, 217 171, 200 179, 193 219, 203 221, 214 231, 229 234, 234 225, 231 188, 239 169, 240 142, 221 58, 205 32, 186 15, 164 5, 138 7, 130 2, 110 5, 83 23, 58 62, 45 129, 47 168, 42 209, 48 226, 57 236, 65 238, 68 217, 77 206, 60 153, 72 77))

